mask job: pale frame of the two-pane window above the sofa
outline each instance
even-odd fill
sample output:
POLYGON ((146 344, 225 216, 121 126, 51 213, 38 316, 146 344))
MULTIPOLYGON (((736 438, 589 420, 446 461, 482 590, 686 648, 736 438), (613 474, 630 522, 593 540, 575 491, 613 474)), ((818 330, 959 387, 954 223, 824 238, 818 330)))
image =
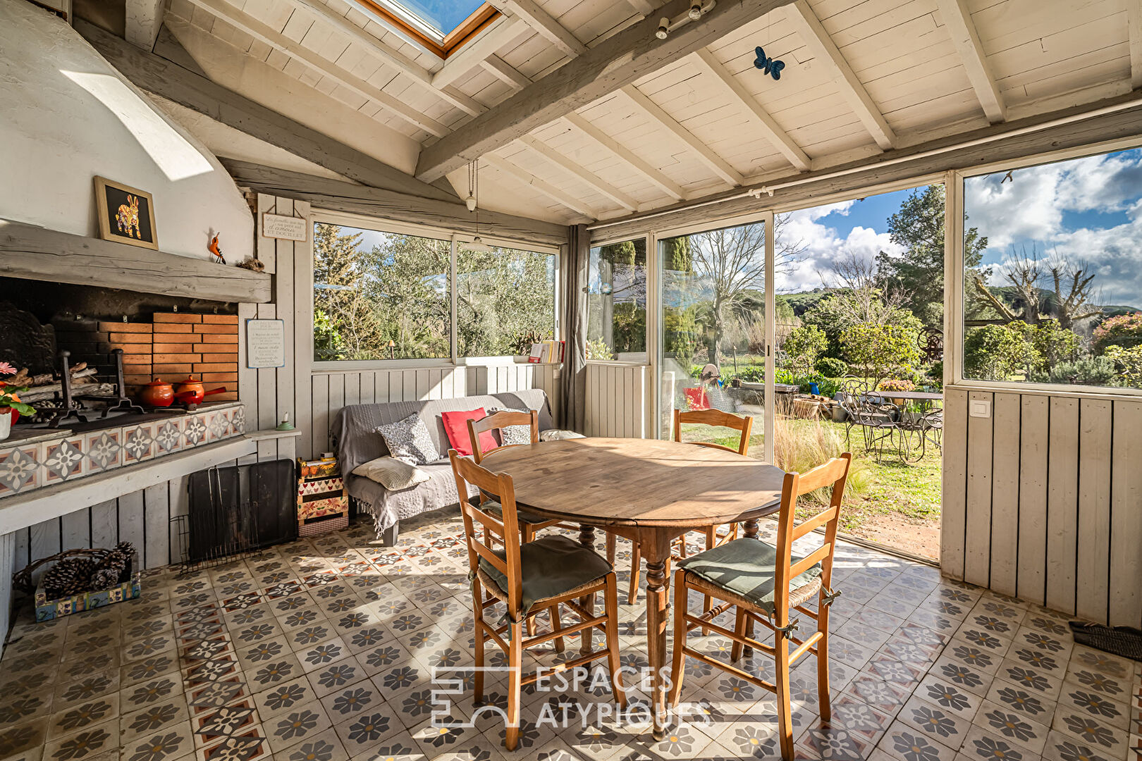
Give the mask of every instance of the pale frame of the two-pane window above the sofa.
MULTIPOLYGON (((464 243, 471 243, 474 235, 468 233, 460 233, 456 229, 450 229, 448 227, 440 227, 435 225, 419 225, 410 222, 401 222, 388 219, 383 219, 379 217, 367 217, 363 214, 354 214, 341 211, 327 211, 322 209, 313 209, 309 213, 309 230, 312 234, 313 226, 316 224, 325 225, 339 225, 343 227, 355 227, 359 229, 369 229, 377 233, 391 233, 394 235, 415 235, 417 237, 428 237, 437 241, 448 241, 450 245, 449 254, 449 297, 451 298, 451 321, 449 331, 449 345, 450 345, 450 356, 437 357, 437 358, 426 358, 426 359, 317 359, 314 357, 313 347, 313 305, 314 305, 314 288, 313 288, 313 265, 314 254, 311 245, 311 256, 308 261, 308 296, 306 306, 308 308, 308 323, 309 323, 309 342, 308 342, 308 357, 309 364, 315 372, 352 372, 357 370, 400 370, 400 369, 424 369, 424 367, 455 367, 455 366, 497 366, 497 365, 509 365, 509 364, 522 364, 516 362, 516 355, 504 355, 500 357, 459 357, 457 356, 457 303, 456 303, 456 276, 457 276, 457 251, 459 246, 464 243)), ((562 335, 562 323, 561 323, 561 257, 563 254, 562 246, 554 246, 542 243, 526 243, 517 240, 505 238, 496 235, 481 235, 480 236, 484 243, 491 246, 504 248, 504 249, 515 249, 520 251, 530 251, 532 253, 544 253, 554 258, 555 268, 555 298, 553 303, 553 325, 555 340, 560 340, 562 335)))

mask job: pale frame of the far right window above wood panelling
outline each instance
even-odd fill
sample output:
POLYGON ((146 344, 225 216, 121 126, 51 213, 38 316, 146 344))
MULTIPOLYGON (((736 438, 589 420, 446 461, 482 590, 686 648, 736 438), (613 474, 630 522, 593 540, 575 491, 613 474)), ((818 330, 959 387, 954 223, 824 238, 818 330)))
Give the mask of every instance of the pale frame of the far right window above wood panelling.
MULTIPOLYGON (((944 185, 944 388, 975 389, 981 391, 1018 391, 1049 396, 1084 398, 1142 397, 1142 389, 1118 386, 1080 386, 1069 383, 1036 383, 1028 381, 995 381, 964 377, 964 181, 971 177, 991 175, 1012 169, 1027 169, 1060 163, 1075 159, 1097 156, 1118 151, 1142 148, 1142 138, 1135 136, 1104 140, 1091 145, 1062 148, 1007 161, 996 161, 971 169, 951 170, 944 185), (950 222, 949 222, 950 220, 950 222), (948 361, 950 356, 950 362, 948 361)), ((1142 294, 1140 294, 1142 296, 1142 294)))

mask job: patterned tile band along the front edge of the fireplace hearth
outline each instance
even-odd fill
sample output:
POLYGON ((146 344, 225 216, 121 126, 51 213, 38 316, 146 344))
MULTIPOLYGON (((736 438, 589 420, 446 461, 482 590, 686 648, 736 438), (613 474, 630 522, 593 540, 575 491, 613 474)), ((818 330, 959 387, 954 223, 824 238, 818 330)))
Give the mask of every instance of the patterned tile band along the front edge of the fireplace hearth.
POLYGON ((246 406, 238 402, 203 405, 162 420, 108 420, 110 428, 75 432, 66 428, 0 442, 0 508, 3 497, 86 476, 136 465, 246 432, 246 406), (122 424, 115 426, 116 421, 122 424))

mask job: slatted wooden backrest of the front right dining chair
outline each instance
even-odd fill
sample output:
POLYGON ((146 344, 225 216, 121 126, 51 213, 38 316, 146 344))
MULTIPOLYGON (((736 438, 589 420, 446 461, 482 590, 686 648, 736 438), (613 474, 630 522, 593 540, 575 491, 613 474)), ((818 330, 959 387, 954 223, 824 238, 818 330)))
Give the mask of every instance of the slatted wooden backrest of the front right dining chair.
POLYGON ((774 613, 778 626, 785 626, 789 623, 790 581, 820 562, 821 584, 826 589, 831 584, 833 554, 837 543, 841 502, 845 495, 845 481, 849 478, 849 465, 852 463, 852 459, 853 455, 845 452, 839 458, 834 458, 803 473, 786 473, 781 488, 781 512, 778 517, 778 559, 773 600, 777 606, 774 613), (829 507, 812 518, 794 524, 797 497, 830 485, 833 486, 833 496, 829 500, 829 507), (793 543, 819 526, 825 526, 825 542, 802 560, 793 562, 793 543))

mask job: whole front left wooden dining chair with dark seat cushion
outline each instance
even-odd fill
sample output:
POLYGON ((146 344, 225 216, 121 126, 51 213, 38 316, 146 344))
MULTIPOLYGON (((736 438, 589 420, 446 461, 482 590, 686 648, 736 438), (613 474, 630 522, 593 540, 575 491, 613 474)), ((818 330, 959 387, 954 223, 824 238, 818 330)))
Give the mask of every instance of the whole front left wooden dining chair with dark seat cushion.
POLYGON ((592 661, 606 657, 611 669, 611 690, 620 706, 626 705, 626 696, 620 680, 619 663, 619 602, 618 581, 614 569, 594 551, 586 549, 566 536, 545 536, 534 542, 520 543, 520 525, 516 517, 515 486, 507 473, 493 473, 475 462, 461 458, 451 450, 452 475, 460 496, 460 512, 464 515, 464 533, 468 544, 468 567, 472 572, 472 607, 475 616, 475 698, 483 699, 484 642, 491 640, 507 656, 507 736, 505 745, 514 751, 520 738, 520 690, 534 682, 538 674, 523 675, 523 651, 530 647, 564 637, 580 634, 584 638, 584 654, 558 664, 544 674, 566 671, 592 661), (482 510, 466 497, 468 484, 481 492, 499 495, 500 515, 482 510), (492 550, 476 537, 476 525, 484 533, 492 532, 504 544, 502 550, 492 550), (488 597, 484 597, 484 592, 488 597), (603 593, 601 616, 594 615, 594 594, 603 593), (586 606, 576 600, 587 598, 586 606), (502 602, 507 607, 505 618, 489 623, 484 610, 502 602), (560 607, 566 606, 579 616, 579 623, 563 628, 560 607), (524 624, 536 614, 548 610, 552 631, 538 637, 524 638, 524 624), (592 632, 601 629, 606 642, 602 650, 592 649, 592 632), (506 638, 506 639, 505 639, 506 638))

